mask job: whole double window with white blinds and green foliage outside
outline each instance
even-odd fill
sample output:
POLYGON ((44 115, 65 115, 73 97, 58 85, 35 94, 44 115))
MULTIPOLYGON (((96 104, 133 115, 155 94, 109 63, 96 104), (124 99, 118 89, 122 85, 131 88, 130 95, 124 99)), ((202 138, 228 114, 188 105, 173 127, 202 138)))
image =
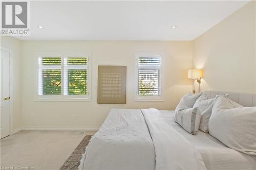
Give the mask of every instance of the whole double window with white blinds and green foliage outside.
POLYGON ((37 100, 90 100, 89 55, 37 55, 37 100))

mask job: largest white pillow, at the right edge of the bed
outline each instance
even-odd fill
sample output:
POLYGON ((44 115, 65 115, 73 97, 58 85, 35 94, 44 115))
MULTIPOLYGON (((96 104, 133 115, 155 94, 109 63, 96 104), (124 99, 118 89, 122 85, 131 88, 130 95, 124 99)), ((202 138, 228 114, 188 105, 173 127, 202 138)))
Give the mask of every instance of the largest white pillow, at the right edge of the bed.
POLYGON ((209 118, 209 133, 227 147, 256 155, 256 107, 218 96, 209 118))

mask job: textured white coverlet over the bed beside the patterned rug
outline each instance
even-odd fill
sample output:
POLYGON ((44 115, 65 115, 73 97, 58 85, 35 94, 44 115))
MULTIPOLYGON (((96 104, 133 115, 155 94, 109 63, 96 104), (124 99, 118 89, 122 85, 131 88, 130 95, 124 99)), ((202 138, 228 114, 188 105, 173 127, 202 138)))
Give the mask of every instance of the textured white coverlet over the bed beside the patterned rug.
POLYGON ((155 169, 154 145, 140 110, 112 109, 79 169, 155 169))

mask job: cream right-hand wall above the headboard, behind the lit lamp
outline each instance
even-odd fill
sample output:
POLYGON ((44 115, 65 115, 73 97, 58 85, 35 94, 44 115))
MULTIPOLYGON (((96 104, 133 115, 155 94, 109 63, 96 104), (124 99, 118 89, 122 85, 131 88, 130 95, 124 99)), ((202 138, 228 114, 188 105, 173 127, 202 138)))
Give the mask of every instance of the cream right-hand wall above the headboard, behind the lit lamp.
POLYGON ((202 90, 256 92, 255 2, 193 41, 193 63, 204 68, 202 90))

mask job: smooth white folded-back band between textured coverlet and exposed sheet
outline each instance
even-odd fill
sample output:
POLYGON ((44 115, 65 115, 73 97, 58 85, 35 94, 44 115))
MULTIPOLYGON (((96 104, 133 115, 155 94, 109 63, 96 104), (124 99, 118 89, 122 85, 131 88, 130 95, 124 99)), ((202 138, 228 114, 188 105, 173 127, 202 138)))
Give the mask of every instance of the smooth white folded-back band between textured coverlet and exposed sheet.
POLYGON ((156 169, 206 169, 199 152, 157 109, 142 109, 156 153, 156 169))

